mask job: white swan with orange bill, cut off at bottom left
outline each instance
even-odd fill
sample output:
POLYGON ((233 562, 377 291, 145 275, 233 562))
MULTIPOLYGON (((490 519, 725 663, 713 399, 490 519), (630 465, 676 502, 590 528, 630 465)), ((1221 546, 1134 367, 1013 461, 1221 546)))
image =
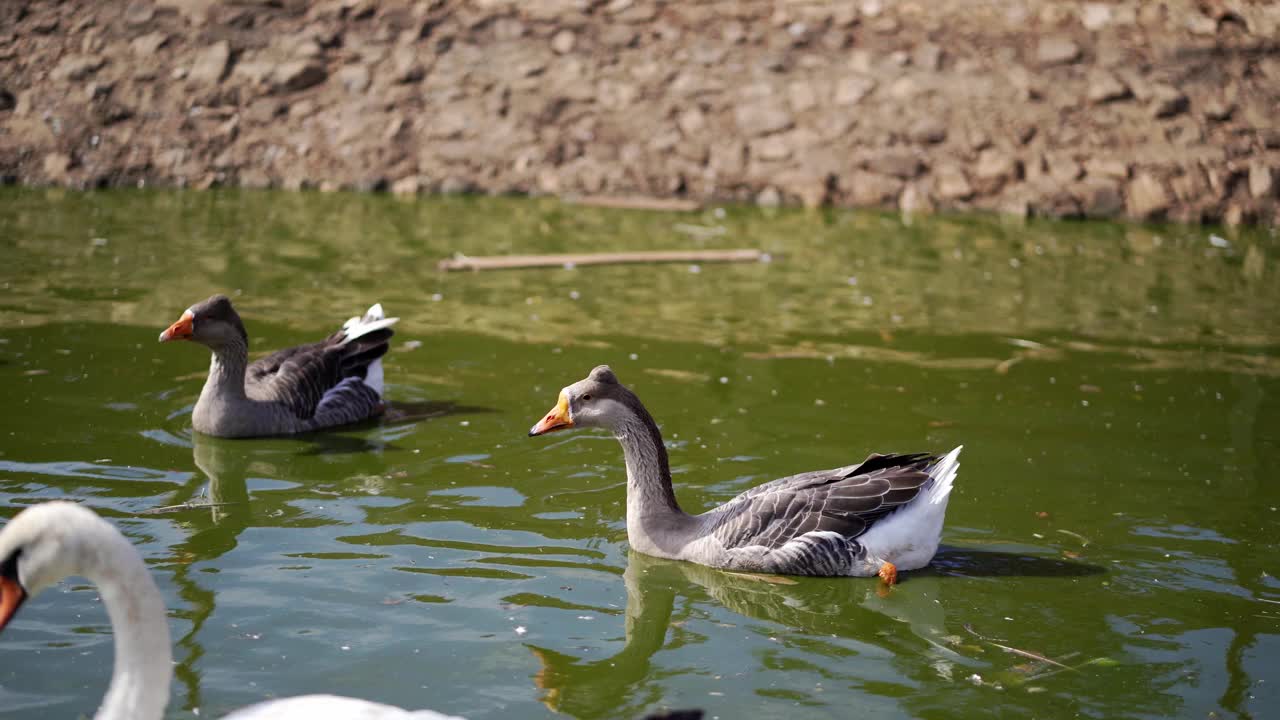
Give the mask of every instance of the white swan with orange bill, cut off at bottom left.
MULTIPOLYGON (((45 502, 0 528, 0 632, 29 596, 64 577, 97 585, 115 635, 115 666, 96 720, 160 720, 173 650, 164 598, 142 556, 114 525, 74 502, 45 502)), ((461 720, 349 697, 311 694, 237 710, 228 720, 461 720)))

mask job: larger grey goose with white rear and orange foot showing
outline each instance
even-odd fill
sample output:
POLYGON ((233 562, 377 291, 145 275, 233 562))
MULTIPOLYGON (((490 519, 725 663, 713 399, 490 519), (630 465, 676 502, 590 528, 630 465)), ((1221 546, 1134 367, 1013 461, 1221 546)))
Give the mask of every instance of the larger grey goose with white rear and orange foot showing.
POLYGON ((648 555, 783 575, 879 575, 924 568, 938 550, 960 447, 872 455, 751 488, 701 515, 676 503, 662 433, 608 365, 561 391, 530 436, 604 428, 627 466, 627 542, 648 555))

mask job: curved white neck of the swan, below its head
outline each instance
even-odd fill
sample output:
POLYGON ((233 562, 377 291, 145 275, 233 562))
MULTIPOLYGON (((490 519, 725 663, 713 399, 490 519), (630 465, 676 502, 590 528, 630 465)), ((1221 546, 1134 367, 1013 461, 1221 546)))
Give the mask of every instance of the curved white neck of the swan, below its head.
POLYGON ((95 720, 161 720, 169 705, 173 650, 164 597, 137 550, 113 532, 93 543, 86 577, 111 619, 115 665, 95 720))

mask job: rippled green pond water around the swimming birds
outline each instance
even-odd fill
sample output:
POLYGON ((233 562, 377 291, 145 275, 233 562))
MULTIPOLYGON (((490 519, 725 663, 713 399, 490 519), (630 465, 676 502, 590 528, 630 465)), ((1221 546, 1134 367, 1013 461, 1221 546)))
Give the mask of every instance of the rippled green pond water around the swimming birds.
MULTIPOLYGON (((307 692, 474 719, 1261 717, 1277 263, 1266 231, 8 188, 0 516, 72 498, 137 544, 169 607, 170 717, 307 692), (689 247, 772 260, 435 268, 689 247), (207 352, 156 336, 214 292, 255 352, 381 301, 389 415, 193 436, 207 352), (942 551, 887 593, 628 552, 617 443, 526 437, 600 363, 662 424, 691 511, 964 443, 942 551)), ((111 647, 83 579, 28 601, 0 717, 92 714, 111 647)))

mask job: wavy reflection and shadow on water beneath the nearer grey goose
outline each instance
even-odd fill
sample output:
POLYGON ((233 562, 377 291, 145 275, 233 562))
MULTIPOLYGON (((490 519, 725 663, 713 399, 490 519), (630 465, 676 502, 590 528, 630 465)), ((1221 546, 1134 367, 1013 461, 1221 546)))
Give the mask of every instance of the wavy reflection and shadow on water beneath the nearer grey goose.
MULTIPOLYGON (((628 551, 622 575, 627 605, 621 651, 585 661, 547 647, 526 647, 539 662, 534 684, 548 708, 572 717, 635 714, 663 701, 658 674, 652 669, 654 655, 663 647, 705 642, 685 629, 699 615, 700 589, 732 612, 804 633, 818 643, 835 637, 873 643, 893 655, 923 653, 936 671, 954 674, 952 666, 973 661, 947 646, 960 630, 947 619, 948 583, 963 582, 960 578, 1073 578, 1103 571, 1084 562, 943 546, 932 568, 890 591, 881 583, 733 573, 628 551), (685 597, 677 610, 681 594, 685 597), (905 624, 910 634, 874 630, 888 623, 905 624), (668 632, 676 635, 669 644, 668 632)), ((841 655, 847 653, 837 650, 832 656, 841 655)))

